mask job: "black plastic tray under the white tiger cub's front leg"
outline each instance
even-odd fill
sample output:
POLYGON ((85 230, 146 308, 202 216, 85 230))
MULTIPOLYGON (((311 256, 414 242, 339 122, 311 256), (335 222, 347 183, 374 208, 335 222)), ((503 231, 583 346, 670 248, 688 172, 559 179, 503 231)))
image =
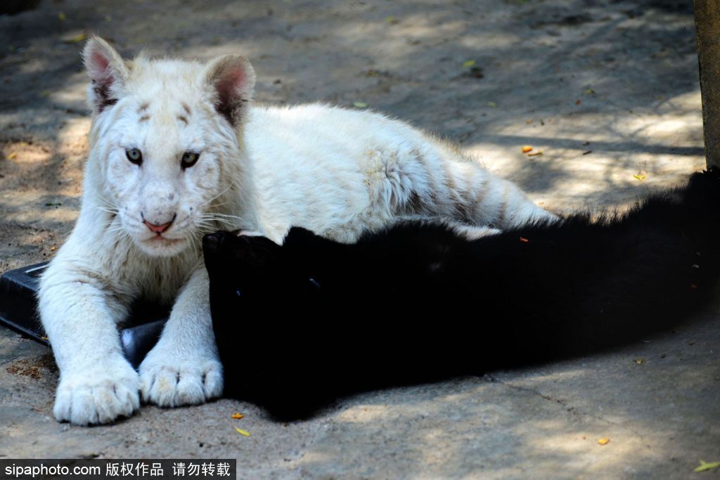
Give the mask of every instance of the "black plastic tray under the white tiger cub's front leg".
MULTIPOLYGON (((48 263, 37 263, 11 270, 0 276, 0 324, 43 345, 50 345, 37 315, 37 284, 48 263)), ((120 329, 122 351, 138 368, 150 348, 157 343, 168 309, 148 302, 132 306, 127 327, 120 329)))

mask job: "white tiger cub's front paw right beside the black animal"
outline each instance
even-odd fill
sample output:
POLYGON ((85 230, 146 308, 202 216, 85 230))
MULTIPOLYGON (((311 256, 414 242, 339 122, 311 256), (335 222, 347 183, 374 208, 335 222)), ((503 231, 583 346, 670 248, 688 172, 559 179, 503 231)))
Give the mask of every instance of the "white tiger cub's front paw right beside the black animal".
POLYGON ((222 394, 222 364, 212 357, 194 360, 151 351, 140 365, 143 400, 161 407, 207 402, 222 394))

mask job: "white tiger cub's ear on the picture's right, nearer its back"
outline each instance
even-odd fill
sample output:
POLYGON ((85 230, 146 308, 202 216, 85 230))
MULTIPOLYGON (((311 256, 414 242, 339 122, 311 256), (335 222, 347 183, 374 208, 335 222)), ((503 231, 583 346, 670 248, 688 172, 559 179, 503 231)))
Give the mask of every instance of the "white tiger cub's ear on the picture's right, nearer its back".
POLYGON ((240 124, 255 89, 255 71, 250 61, 240 55, 222 55, 208 63, 205 80, 215 91, 217 112, 233 126, 240 124))

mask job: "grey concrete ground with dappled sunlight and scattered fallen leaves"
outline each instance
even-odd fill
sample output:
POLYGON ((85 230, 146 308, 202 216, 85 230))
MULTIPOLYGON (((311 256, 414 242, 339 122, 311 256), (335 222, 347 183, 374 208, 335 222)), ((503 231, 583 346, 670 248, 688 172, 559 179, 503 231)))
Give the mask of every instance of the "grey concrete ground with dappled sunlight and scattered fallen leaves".
MULTIPOLYGON (((260 101, 362 102, 570 212, 623 207, 703 168, 690 4, 43 0, 0 16, 0 271, 50 258, 76 218, 88 32, 127 56, 243 53, 260 101)), ((370 392, 289 424, 225 399, 60 424, 49 350, 0 329, 0 457, 232 457, 242 478, 718 478, 693 468, 720 461, 719 313, 621 350, 370 392)))

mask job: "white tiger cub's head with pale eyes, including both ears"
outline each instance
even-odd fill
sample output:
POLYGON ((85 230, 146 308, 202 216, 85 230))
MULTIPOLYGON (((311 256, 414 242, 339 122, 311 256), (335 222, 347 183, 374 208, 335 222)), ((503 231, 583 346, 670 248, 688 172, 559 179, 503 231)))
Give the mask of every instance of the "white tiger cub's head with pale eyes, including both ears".
POLYGON ((199 248, 235 184, 225 163, 238 149, 235 129, 254 84, 250 63, 234 55, 207 65, 126 61, 96 37, 84 56, 101 208, 148 255, 199 248))

